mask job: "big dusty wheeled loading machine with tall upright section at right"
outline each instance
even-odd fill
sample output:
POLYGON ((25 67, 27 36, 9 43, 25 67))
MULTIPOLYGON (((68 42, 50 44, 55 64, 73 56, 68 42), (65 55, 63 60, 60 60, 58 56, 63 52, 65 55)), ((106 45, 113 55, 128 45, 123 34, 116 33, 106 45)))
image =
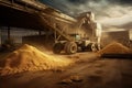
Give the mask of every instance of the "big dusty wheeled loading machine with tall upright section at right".
POLYGON ((72 32, 73 29, 68 29, 67 34, 64 32, 69 37, 68 40, 61 38, 59 35, 55 38, 53 46, 55 54, 59 54, 62 51, 66 54, 74 54, 100 50, 101 25, 95 22, 92 12, 82 13, 74 25, 76 25, 74 32, 72 32))

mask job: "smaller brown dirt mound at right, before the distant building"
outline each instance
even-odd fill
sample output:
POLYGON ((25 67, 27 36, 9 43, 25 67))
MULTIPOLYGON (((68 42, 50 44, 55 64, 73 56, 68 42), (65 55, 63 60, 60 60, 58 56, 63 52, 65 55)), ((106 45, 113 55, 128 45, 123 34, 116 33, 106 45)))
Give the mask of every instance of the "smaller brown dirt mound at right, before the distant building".
POLYGON ((121 43, 110 43, 105 48, 98 52, 98 54, 128 54, 132 53, 130 48, 122 45, 121 43))

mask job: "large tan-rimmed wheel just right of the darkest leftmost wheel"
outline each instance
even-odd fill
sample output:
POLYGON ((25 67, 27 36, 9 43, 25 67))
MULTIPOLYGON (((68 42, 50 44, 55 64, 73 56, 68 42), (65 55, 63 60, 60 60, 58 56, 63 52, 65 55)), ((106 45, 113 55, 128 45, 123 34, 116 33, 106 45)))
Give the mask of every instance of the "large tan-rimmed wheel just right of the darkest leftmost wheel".
POLYGON ((65 44, 66 54, 74 54, 77 52, 77 44, 75 42, 67 42, 65 44))

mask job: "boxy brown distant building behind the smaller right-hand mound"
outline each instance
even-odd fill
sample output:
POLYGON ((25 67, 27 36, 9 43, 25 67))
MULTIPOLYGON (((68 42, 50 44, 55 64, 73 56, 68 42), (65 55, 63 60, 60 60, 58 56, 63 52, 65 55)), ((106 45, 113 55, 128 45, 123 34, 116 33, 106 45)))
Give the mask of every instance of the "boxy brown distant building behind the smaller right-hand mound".
POLYGON ((130 46, 129 31, 102 32, 101 45, 106 46, 107 44, 111 42, 119 42, 125 46, 130 46))

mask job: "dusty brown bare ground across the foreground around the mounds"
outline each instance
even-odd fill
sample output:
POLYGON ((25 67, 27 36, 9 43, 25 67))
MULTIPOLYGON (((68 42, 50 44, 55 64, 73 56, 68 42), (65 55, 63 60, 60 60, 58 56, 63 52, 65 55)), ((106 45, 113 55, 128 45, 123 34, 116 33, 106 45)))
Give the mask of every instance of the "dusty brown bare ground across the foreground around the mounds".
POLYGON ((77 63, 62 70, 1 76, 0 88, 132 88, 132 59, 97 58, 87 52, 63 56, 77 63))

